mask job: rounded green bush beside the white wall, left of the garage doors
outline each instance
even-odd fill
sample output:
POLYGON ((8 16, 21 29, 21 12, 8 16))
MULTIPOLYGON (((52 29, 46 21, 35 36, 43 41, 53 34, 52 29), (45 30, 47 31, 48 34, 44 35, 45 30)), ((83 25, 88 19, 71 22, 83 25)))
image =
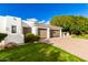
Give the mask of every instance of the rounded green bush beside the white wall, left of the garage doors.
POLYGON ((27 33, 25 35, 25 42, 28 43, 28 42, 35 42, 35 41, 39 41, 40 36, 39 35, 35 35, 32 33, 27 33))

